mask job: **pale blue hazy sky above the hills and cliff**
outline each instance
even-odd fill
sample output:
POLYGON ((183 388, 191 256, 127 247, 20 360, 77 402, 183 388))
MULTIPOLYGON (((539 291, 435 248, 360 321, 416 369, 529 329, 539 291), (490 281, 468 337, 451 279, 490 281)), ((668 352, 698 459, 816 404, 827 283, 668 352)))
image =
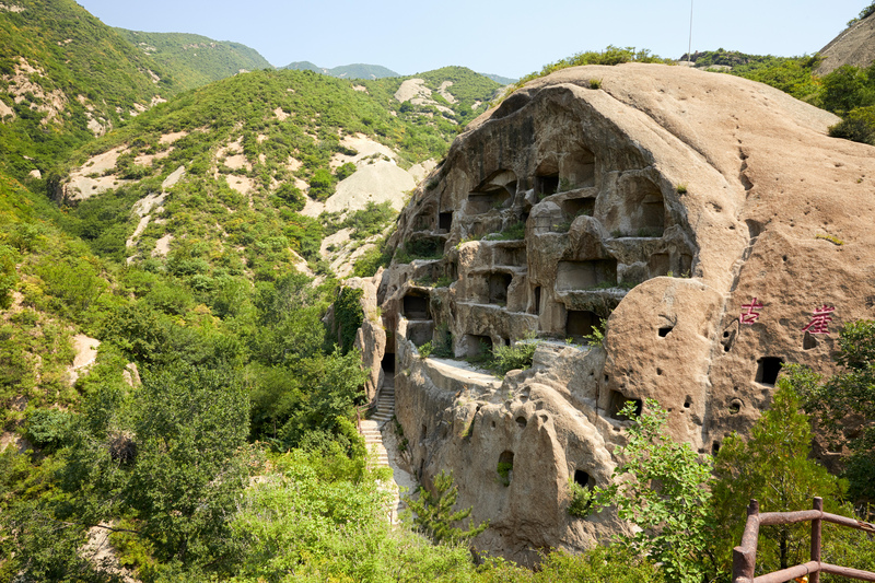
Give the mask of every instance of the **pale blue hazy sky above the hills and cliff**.
POLYGON ((234 40, 281 67, 382 65, 401 73, 447 65, 522 77, 582 50, 692 49, 813 54, 868 0, 78 0, 105 24, 234 40))

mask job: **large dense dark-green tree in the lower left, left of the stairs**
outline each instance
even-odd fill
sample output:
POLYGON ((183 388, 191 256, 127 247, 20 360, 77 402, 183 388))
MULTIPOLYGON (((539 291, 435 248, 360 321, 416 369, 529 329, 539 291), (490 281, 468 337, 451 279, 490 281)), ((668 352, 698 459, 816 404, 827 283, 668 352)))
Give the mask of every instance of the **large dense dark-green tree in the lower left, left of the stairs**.
POLYGON ((96 525, 136 511, 155 556, 187 567, 226 567, 236 501, 254 454, 245 446, 248 399, 223 371, 184 364, 144 372, 130 396, 95 387, 62 470, 68 522, 96 525))

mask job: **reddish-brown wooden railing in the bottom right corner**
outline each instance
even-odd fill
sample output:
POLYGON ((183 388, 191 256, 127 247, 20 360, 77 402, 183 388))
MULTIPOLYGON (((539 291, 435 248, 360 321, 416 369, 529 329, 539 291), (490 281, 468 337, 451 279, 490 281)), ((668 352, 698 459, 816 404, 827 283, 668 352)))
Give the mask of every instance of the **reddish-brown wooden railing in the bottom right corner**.
POLYGON ((745 525, 745 533, 742 535, 742 544, 732 551, 733 583, 784 583, 805 575, 808 575, 808 583, 819 583, 820 573, 832 573, 860 581, 875 581, 875 573, 871 571, 838 567, 820 561, 820 526, 824 521, 849 528, 856 528, 858 530, 875 533, 875 525, 873 524, 824 512, 822 498, 814 499, 813 510, 763 512, 762 514, 759 513, 759 502, 750 500, 750 505, 747 506, 747 524, 745 525), (757 565, 759 527, 774 524, 796 524, 807 521, 812 522, 812 560, 755 578, 754 570, 757 565))

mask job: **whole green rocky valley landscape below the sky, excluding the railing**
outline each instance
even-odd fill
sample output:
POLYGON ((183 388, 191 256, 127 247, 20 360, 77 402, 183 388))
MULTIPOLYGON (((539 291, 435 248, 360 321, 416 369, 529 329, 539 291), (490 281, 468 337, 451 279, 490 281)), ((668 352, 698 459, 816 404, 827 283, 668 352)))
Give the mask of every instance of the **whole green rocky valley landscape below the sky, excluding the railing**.
POLYGON ((718 582, 750 498, 871 522, 872 18, 499 82, 0 4, 0 581, 718 582))

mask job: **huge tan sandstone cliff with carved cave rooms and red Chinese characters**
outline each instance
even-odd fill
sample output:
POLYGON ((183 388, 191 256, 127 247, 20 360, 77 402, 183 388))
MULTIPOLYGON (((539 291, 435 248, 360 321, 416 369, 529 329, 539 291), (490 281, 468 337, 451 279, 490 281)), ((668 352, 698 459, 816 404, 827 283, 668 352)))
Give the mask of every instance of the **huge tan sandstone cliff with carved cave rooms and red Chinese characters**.
POLYGON ((769 407, 782 363, 832 370, 840 326, 875 315, 875 149, 828 138, 837 121, 632 63, 535 80, 459 136, 399 219, 409 263, 374 284, 412 469, 427 487, 453 471, 490 521, 480 548, 527 561, 625 528, 567 508, 570 479, 609 480, 627 400, 656 399, 711 454, 769 407), (585 346, 602 318, 604 347, 585 346), (503 380, 418 353, 533 334, 534 366, 503 380))

